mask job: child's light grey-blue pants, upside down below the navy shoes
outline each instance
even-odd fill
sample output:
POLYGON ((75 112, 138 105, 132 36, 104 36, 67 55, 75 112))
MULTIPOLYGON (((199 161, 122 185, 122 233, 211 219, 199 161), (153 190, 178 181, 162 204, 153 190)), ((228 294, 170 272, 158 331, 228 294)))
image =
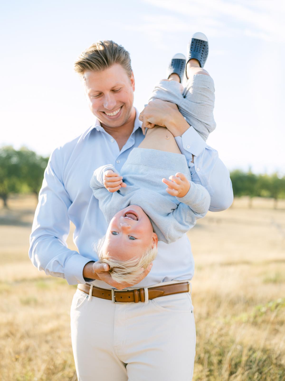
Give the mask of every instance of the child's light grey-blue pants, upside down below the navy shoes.
POLYGON ((216 127, 213 115, 214 93, 213 79, 209 75, 195 74, 187 81, 185 88, 176 81, 160 81, 149 101, 161 99, 177 104, 187 123, 206 141, 216 127))

